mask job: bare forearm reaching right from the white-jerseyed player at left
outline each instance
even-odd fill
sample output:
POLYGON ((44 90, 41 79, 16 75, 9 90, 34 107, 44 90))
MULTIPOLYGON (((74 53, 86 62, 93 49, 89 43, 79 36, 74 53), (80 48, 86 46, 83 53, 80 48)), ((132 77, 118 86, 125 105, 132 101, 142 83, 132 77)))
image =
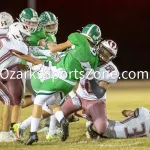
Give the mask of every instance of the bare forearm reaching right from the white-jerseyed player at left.
POLYGON ((37 65, 37 64, 42 64, 43 62, 38 59, 38 58, 34 58, 34 57, 31 57, 29 55, 21 55, 21 54, 17 54, 15 52, 12 52, 14 55, 16 55, 18 58, 20 59, 23 59, 23 60, 26 60, 28 62, 31 62, 32 64, 34 65, 37 65))

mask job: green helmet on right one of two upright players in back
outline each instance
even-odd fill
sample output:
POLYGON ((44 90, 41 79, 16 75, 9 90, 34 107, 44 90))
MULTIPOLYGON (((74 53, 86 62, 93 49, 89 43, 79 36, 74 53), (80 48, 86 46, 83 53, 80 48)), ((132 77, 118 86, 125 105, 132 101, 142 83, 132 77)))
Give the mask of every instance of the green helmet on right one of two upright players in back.
POLYGON ((50 34, 56 34, 58 31, 58 19, 49 11, 44 11, 40 14, 39 25, 45 28, 45 31, 50 34))

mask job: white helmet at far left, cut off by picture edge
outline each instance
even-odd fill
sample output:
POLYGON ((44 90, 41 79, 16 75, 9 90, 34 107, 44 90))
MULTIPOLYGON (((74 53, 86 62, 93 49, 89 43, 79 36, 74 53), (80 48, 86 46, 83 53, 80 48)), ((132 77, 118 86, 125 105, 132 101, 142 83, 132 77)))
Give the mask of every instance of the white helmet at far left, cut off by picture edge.
POLYGON ((14 19, 7 12, 0 12, 0 29, 7 29, 12 23, 14 19))

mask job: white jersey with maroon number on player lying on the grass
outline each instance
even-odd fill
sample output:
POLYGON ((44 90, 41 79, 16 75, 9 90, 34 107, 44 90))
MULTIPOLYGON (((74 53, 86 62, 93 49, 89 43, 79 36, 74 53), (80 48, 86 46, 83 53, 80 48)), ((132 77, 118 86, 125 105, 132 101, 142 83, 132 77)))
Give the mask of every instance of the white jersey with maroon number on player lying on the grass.
POLYGON ((108 138, 130 138, 150 136, 150 111, 138 108, 138 117, 128 117, 124 121, 111 121, 104 134, 108 138))

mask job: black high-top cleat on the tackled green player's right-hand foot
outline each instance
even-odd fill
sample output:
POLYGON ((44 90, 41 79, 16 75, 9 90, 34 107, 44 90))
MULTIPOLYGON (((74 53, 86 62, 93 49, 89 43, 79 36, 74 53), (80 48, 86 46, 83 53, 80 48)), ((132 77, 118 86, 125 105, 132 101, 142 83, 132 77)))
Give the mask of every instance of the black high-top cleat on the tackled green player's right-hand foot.
POLYGON ((66 118, 63 118, 60 121, 61 127, 61 141, 66 141, 69 136, 69 121, 66 118))

